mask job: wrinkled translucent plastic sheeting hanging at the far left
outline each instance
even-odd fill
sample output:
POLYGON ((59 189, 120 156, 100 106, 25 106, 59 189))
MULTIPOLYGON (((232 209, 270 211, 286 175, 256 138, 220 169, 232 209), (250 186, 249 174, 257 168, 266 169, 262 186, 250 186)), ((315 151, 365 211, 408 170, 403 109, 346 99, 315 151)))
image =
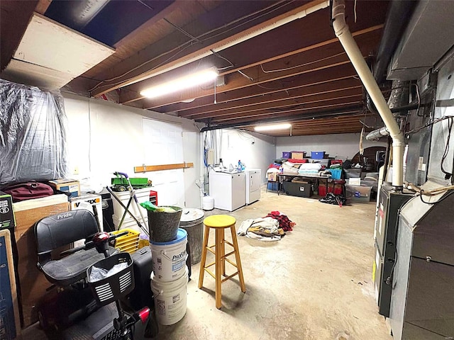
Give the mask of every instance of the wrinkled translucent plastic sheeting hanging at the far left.
POLYGON ((60 92, 0 79, 0 186, 67 177, 60 92))

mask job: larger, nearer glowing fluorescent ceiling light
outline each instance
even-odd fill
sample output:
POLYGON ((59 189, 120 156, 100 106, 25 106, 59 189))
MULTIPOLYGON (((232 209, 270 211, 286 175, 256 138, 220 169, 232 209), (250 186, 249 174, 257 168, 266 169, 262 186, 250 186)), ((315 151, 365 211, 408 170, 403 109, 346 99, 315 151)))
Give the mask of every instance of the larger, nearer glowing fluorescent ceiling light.
POLYGON ((140 96, 156 98, 164 96, 165 94, 172 94, 174 92, 189 89, 197 85, 206 84, 209 81, 214 81, 216 77, 218 77, 216 69, 204 69, 203 71, 188 74, 187 76, 140 91, 140 96))

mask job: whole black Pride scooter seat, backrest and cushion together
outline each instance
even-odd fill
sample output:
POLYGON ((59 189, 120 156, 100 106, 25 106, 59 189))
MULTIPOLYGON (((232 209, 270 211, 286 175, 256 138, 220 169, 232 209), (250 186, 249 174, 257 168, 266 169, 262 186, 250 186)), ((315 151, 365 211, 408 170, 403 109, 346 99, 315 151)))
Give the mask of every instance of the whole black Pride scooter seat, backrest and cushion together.
MULTIPOLYGON (((35 239, 38 249, 38 268, 43 271, 50 283, 58 286, 68 286, 87 277, 87 268, 99 260, 104 254, 99 254, 95 248, 80 250, 74 254, 60 258, 52 257, 52 251, 67 246, 79 239, 91 241, 98 224, 92 212, 88 210, 72 210, 52 215, 39 220, 35 224, 35 239)), ((111 248, 109 251, 116 251, 111 248)))

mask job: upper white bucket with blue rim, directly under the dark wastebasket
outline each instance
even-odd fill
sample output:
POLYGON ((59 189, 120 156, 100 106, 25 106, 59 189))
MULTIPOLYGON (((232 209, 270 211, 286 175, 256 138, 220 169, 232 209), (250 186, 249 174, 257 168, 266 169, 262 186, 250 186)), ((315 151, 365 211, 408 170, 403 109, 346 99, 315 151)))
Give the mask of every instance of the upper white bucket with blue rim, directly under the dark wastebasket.
POLYGON ((187 232, 179 228, 177 238, 170 242, 150 242, 155 279, 172 281, 182 277, 186 268, 187 232))

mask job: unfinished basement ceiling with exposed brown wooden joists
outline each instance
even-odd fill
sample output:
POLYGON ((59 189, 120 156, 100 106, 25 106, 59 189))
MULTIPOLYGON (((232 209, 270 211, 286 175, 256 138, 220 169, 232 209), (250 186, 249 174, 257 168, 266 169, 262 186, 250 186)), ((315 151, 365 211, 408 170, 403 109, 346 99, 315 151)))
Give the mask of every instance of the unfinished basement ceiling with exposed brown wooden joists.
MULTIPOLYGON (((0 4, 2 70, 33 11, 115 49, 64 91, 207 125, 253 130, 258 123, 289 122, 294 136, 360 132, 365 119, 372 122, 368 126, 380 125, 380 118, 365 109, 362 84, 331 28, 327 1, 0 4), (222 76, 216 91, 212 84, 155 99, 140 96, 143 89, 204 67, 216 67, 222 76)), ((387 8, 388 1, 346 4, 350 30, 370 60, 380 45, 387 8)))

